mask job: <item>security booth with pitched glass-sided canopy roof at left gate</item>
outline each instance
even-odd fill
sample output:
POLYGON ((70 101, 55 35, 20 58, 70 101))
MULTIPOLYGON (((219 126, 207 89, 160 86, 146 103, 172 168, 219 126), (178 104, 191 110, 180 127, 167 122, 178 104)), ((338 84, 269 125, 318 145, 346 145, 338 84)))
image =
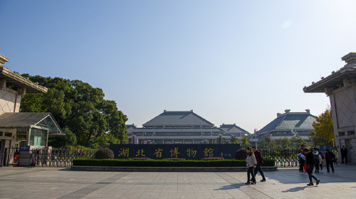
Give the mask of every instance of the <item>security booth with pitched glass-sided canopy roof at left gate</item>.
POLYGON ((11 140, 16 141, 16 148, 5 151, 5 164, 30 166, 31 151, 43 149, 51 151, 48 146, 48 136, 65 136, 53 114, 50 112, 9 112, 0 115, 0 131, 11 134, 11 140))

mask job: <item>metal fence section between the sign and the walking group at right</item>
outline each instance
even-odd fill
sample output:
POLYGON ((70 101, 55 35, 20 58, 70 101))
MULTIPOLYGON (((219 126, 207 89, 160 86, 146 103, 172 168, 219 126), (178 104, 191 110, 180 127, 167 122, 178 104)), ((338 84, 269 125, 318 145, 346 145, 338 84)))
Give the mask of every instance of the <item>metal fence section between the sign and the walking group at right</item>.
POLYGON ((276 166, 299 166, 299 149, 261 149, 263 158, 271 158, 276 161, 276 166))

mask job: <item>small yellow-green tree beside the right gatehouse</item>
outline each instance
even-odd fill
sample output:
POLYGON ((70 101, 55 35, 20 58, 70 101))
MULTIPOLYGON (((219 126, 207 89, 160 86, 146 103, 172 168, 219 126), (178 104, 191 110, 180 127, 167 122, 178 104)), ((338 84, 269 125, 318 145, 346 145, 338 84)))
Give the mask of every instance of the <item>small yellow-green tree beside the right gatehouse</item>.
POLYGON ((310 131, 308 136, 312 140, 312 145, 318 144, 333 144, 335 139, 333 117, 331 115, 331 108, 328 107, 325 112, 315 117, 313 122, 313 131, 310 131))

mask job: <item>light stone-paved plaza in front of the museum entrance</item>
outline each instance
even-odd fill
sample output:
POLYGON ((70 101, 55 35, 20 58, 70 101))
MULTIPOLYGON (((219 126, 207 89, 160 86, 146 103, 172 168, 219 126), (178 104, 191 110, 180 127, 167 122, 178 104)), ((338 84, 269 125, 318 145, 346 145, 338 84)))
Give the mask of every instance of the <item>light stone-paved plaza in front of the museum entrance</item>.
MULTIPOLYGON (((324 168, 326 171, 326 169, 324 168)), ((320 173, 308 187, 298 168, 266 171, 245 185, 246 172, 109 172, 2 167, 0 198, 356 198, 356 166, 320 173)))

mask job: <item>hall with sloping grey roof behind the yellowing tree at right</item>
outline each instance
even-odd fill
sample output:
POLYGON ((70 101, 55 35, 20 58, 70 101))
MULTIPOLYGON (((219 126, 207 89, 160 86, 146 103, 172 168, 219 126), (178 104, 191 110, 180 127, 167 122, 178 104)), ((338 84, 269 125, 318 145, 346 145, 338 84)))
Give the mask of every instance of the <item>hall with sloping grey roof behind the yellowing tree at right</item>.
MULTIPOLYGON (((313 130, 313 122, 315 122, 315 116, 310 114, 309 109, 305 109, 305 112, 290 112, 290 109, 286 109, 283 114, 278 113, 277 118, 273 119, 266 127, 257 131, 257 139, 261 140, 266 136, 270 136, 271 139, 284 137, 290 139, 297 134, 310 146, 311 141, 308 133, 313 130)), ((256 141, 255 136, 250 141, 256 141)))

